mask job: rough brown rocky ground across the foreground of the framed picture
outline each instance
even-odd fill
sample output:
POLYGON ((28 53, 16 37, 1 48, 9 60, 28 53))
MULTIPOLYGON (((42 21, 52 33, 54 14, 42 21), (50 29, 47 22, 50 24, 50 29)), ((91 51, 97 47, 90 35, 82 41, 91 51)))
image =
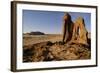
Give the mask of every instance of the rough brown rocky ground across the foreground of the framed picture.
POLYGON ((63 42, 41 42, 23 47, 23 62, 90 59, 89 45, 63 42))

